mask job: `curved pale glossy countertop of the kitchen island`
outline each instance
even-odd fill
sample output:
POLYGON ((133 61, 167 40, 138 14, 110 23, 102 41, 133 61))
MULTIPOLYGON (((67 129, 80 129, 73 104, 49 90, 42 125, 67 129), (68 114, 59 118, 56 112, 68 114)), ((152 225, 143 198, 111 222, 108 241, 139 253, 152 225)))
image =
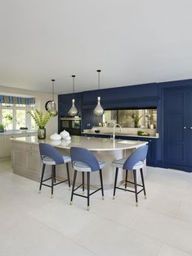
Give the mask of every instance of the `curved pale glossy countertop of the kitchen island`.
POLYGON ((112 151, 121 149, 136 149, 144 144, 146 141, 136 140, 123 140, 123 139, 105 139, 105 138, 92 138, 84 136, 71 136, 71 141, 65 139, 51 140, 51 139, 38 139, 37 136, 20 137, 11 139, 16 142, 25 142, 29 144, 47 143, 56 148, 70 149, 71 147, 82 147, 91 151, 112 151), (119 143, 124 141, 125 143, 119 143))

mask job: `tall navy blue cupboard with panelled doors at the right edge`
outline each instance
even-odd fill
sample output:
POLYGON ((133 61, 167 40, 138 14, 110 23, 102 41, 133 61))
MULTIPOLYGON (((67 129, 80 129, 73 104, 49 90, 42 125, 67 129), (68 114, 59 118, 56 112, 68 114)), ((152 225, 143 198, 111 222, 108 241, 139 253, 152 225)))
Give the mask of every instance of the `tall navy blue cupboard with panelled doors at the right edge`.
POLYGON ((165 167, 192 171, 192 89, 164 89, 163 162, 165 167))

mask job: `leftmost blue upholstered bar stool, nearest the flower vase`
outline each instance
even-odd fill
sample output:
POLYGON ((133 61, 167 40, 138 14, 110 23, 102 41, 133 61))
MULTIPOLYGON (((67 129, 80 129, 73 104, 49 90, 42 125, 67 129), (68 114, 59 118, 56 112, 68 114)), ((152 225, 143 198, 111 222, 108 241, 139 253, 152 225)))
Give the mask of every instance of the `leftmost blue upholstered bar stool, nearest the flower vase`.
POLYGON ((68 181, 69 188, 70 188, 69 162, 71 162, 71 158, 66 155, 61 155, 60 152, 57 151, 55 148, 53 148, 53 146, 51 146, 50 144, 39 143, 39 151, 42 158, 42 176, 41 176, 41 181, 39 186, 39 193, 42 190, 42 185, 46 185, 51 188, 51 198, 52 198, 54 185, 58 185, 60 183, 68 181), (64 163, 66 163, 67 180, 56 183, 56 165, 64 164, 64 163), (46 165, 52 166, 51 177, 46 180, 43 180, 46 165), (48 181, 48 180, 51 180, 51 185, 47 185, 43 183, 44 181, 48 181))

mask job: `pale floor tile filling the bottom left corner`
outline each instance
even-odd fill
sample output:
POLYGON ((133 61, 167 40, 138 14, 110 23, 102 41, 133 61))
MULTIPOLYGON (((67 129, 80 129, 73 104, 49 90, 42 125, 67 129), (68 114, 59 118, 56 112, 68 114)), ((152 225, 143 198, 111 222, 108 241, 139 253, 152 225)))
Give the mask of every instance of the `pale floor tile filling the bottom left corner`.
POLYGON ((95 255, 10 204, 4 204, 1 209, 0 225, 0 255, 3 256, 95 255))

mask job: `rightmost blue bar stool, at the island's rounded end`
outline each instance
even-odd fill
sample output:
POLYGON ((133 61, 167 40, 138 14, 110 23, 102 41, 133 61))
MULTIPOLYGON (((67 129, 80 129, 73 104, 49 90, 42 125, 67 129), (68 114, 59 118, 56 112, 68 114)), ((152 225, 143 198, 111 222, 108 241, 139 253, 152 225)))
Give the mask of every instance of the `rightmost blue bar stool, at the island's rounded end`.
POLYGON ((114 197, 116 189, 118 190, 125 190, 136 194, 136 206, 138 206, 138 199, 137 194, 139 194, 141 191, 144 191, 145 199, 146 199, 146 193, 145 193, 145 182, 144 182, 144 176, 143 176, 143 167, 144 167, 144 161, 147 155, 148 151, 148 145, 141 146, 140 148, 136 149, 131 156, 128 158, 122 158, 118 160, 114 160, 113 164, 116 167, 115 172, 115 178, 114 178, 114 197), (117 186, 118 181, 118 168, 122 168, 123 170, 126 170, 125 174, 125 188, 120 188, 117 186), (140 169, 141 171, 141 181, 142 185, 136 183, 136 170, 140 169), (133 171, 133 180, 134 182, 127 181, 127 171, 133 171), (131 183, 134 185, 135 190, 127 190, 127 183, 131 183), (140 191, 137 191, 137 186, 142 187, 140 191))

